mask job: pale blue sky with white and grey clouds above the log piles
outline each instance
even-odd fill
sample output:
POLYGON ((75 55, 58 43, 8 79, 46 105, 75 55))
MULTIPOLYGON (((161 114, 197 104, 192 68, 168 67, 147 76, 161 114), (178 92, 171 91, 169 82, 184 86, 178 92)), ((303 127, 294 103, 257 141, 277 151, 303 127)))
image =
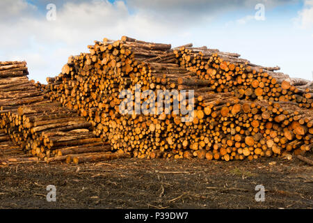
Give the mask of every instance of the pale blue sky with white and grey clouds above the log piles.
POLYGON ((25 60, 29 77, 44 83, 93 40, 122 35, 237 52, 312 80, 313 0, 1 0, 0 21, 0 61, 25 60), (55 21, 46 19, 48 3, 55 21), (265 20, 255 20, 257 3, 265 20))

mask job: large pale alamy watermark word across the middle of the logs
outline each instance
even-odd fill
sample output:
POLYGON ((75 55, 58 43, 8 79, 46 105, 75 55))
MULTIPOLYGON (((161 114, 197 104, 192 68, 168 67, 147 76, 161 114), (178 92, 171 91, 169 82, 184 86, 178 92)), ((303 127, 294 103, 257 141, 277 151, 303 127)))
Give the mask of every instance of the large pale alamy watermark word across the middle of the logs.
POLYGON ((176 114, 182 116, 182 122, 193 121, 194 91, 173 89, 141 92, 141 85, 136 84, 134 93, 125 89, 118 96, 120 114, 176 114))

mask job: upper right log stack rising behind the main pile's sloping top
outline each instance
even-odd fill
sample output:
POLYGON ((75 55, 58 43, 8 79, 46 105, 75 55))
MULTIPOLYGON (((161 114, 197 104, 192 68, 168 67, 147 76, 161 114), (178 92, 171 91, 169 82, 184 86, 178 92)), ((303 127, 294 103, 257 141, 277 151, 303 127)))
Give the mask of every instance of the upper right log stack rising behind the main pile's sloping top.
POLYGON ((280 70, 277 66, 257 66, 239 54, 207 47, 179 47, 173 53, 180 66, 207 80, 216 92, 234 91, 246 100, 291 101, 307 109, 313 105, 313 83, 274 72, 280 70))

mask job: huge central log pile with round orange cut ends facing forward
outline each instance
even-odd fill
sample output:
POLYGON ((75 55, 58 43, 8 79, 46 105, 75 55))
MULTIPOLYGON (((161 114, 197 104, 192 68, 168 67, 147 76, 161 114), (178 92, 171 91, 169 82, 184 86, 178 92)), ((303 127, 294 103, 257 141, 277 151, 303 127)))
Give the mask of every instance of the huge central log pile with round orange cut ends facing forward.
MULTIPOLYGON (((228 161, 312 149, 312 82, 191 44, 172 49, 123 36, 88 48, 89 53, 70 56, 60 75, 47 78, 45 93, 78 111, 114 151, 228 161), (132 95, 193 90, 193 100, 182 93, 163 100, 184 98, 180 107, 192 116, 175 114, 172 106, 169 114, 123 114, 119 95, 125 89, 132 95)), ((154 98, 139 96, 139 105, 158 107, 150 104, 154 98)))

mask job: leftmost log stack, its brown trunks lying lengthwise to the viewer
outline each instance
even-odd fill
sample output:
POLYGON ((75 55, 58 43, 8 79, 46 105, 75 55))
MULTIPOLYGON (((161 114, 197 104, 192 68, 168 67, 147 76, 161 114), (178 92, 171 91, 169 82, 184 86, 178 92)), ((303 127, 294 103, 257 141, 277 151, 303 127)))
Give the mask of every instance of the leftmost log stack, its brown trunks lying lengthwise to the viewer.
POLYGON ((74 110, 51 102, 25 62, 0 62, 0 163, 95 162, 122 156, 74 110), (12 71, 13 70, 13 71, 12 71))

